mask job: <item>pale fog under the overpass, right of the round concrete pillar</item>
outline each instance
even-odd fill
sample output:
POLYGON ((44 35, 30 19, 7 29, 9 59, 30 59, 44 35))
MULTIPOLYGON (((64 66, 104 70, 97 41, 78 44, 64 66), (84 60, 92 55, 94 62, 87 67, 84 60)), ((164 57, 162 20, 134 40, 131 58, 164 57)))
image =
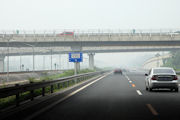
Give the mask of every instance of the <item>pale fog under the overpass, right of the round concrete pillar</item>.
POLYGON ((125 52, 96 54, 95 60, 97 62, 95 63, 95 65, 99 67, 140 68, 146 60, 154 57, 155 54, 156 52, 125 52))

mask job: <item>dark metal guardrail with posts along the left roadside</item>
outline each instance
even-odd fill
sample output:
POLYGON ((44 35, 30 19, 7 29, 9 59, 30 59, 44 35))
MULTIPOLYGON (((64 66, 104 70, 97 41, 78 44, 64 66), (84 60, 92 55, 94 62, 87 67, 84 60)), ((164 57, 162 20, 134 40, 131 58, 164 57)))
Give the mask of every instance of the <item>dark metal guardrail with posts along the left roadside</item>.
POLYGON ((70 77, 64 77, 56 80, 51 80, 51 81, 43 81, 43 82, 35 82, 35 83, 29 83, 25 85, 19 85, 16 84, 13 87, 7 87, 7 88, 1 88, 0 89, 0 99, 1 98, 6 98, 9 96, 16 95, 16 106, 19 106, 20 103, 20 94, 30 91, 30 99, 31 101, 34 100, 34 90, 35 89, 42 89, 42 96, 45 96, 45 87, 50 86, 50 93, 54 92, 54 85, 57 84, 58 89, 60 88, 60 83, 67 83, 67 87, 69 86, 70 82, 77 82, 83 81, 88 79, 89 77, 93 77, 99 74, 103 74, 107 71, 98 71, 98 72, 90 72, 90 73, 84 73, 84 74, 79 74, 79 75, 74 75, 70 77))

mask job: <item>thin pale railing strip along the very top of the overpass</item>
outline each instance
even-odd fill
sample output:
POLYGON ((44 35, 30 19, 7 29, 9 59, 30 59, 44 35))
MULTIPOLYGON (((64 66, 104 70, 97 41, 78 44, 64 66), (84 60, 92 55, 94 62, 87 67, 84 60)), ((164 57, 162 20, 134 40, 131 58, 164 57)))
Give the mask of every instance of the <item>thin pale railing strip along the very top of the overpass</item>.
POLYGON ((56 30, 0 30, 0 35, 24 35, 24 34, 61 34, 63 32, 73 32, 74 34, 114 34, 114 33, 176 33, 179 29, 56 29, 56 30))

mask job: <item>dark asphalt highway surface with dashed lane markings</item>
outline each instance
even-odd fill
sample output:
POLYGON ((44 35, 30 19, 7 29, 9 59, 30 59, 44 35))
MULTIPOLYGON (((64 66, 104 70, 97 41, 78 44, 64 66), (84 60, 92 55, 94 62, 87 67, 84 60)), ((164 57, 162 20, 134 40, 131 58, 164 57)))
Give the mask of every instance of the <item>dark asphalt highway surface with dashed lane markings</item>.
POLYGON ((144 79, 143 72, 111 73, 80 88, 76 94, 34 116, 33 120, 180 119, 180 93, 148 92, 144 79))

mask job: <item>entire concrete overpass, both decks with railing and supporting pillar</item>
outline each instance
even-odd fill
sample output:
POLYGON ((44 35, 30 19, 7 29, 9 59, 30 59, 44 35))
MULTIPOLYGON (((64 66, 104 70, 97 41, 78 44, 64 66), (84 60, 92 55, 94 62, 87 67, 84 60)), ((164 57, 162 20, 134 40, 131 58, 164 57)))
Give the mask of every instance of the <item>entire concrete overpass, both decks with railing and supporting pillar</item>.
POLYGON ((2 31, 0 48, 1 61, 5 56, 32 55, 32 51, 34 55, 82 51, 89 54, 93 68, 94 53, 178 50, 180 33, 177 29, 2 31))

